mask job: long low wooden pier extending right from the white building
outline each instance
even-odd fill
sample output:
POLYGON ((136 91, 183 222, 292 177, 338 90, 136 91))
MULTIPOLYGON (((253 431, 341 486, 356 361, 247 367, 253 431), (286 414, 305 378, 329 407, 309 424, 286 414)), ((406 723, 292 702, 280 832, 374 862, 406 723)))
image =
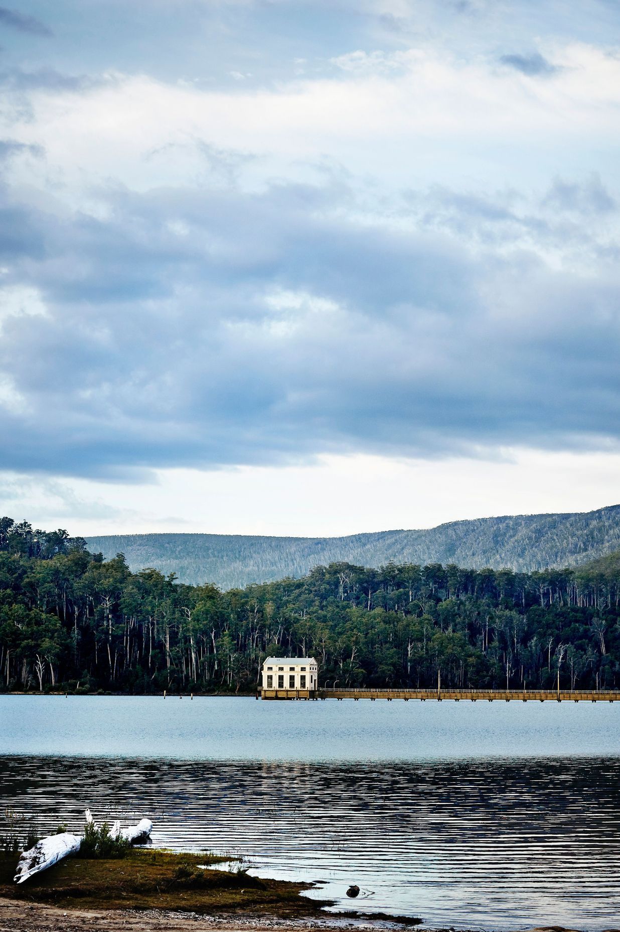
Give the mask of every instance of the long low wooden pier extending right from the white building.
POLYGON ((620 702, 620 691, 615 690, 374 690, 374 689, 318 689, 310 690, 266 690, 256 693, 263 699, 418 699, 422 702, 620 702))

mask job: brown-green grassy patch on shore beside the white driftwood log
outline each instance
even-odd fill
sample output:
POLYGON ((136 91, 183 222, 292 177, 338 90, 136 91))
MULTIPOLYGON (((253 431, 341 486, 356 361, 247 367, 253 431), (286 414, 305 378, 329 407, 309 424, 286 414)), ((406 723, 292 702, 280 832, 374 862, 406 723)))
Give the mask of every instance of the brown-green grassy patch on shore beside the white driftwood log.
POLYGON ((286 918, 316 915, 324 905, 300 897, 309 884, 259 880, 245 870, 203 869, 211 855, 134 848, 122 858, 68 857, 14 884, 17 857, 0 855, 0 896, 65 908, 244 912, 286 918))

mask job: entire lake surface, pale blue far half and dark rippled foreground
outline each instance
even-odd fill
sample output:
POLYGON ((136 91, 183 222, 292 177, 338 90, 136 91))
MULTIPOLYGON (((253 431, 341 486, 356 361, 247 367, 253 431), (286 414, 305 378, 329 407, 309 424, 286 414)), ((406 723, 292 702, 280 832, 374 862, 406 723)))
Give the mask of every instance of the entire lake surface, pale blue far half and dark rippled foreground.
POLYGON ((620 705, 0 696, 0 805, 427 925, 620 925, 620 705))

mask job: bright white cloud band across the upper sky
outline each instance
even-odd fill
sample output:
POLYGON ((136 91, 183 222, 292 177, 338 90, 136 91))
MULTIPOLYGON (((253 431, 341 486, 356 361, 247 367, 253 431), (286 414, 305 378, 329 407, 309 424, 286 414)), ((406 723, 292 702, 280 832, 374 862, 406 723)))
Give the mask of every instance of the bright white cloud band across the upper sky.
MULTIPOLYGON (((620 59, 576 43, 546 56, 559 71, 545 80, 430 48, 353 52, 338 59, 348 69, 341 75, 275 89, 223 92, 114 75, 80 94, 34 89, 32 118, 6 106, 4 130, 45 148, 40 168, 28 166, 29 182, 37 171, 41 183, 51 173, 68 190, 111 180, 138 189, 191 181, 204 167, 199 149, 181 161, 152 157, 191 140, 259 155, 260 166, 246 171, 254 182, 273 171, 299 174, 293 162, 325 154, 388 184, 428 176, 431 166, 436 181, 482 176, 490 164, 497 177, 535 178, 525 151, 559 157, 567 147, 574 154, 620 138, 620 59)), ((12 164, 19 178, 20 158, 12 164)), ((548 158, 543 164, 546 171, 548 158)))

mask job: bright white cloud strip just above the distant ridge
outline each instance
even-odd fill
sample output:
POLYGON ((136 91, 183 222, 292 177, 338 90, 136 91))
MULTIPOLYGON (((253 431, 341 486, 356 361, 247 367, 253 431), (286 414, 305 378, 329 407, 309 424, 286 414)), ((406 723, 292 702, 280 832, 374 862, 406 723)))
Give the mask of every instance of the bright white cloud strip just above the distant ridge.
POLYGON ((439 462, 325 456, 312 466, 157 471, 145 485, 0 473, 0 512, 74 534, 179 530, 337 536, 619 500, 620 454, 504 449, 439 462))

